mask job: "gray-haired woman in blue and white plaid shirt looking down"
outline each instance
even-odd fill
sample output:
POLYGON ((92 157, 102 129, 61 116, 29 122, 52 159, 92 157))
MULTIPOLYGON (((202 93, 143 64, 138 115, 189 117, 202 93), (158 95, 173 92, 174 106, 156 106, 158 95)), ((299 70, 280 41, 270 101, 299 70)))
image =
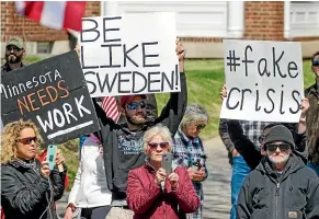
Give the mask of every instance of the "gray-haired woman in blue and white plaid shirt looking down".
POLYGON ((206 155, 200 134, 209 122, 205 108, 192 103, 187 105, 180 128, 174 136, 173 158, 178 165, 185 166, 193 182, 195 192, 201 199, 201 206, 194 214, 189 214, 187 219, 202 218, 204 192, 202 182, 208 176, 206 155))

